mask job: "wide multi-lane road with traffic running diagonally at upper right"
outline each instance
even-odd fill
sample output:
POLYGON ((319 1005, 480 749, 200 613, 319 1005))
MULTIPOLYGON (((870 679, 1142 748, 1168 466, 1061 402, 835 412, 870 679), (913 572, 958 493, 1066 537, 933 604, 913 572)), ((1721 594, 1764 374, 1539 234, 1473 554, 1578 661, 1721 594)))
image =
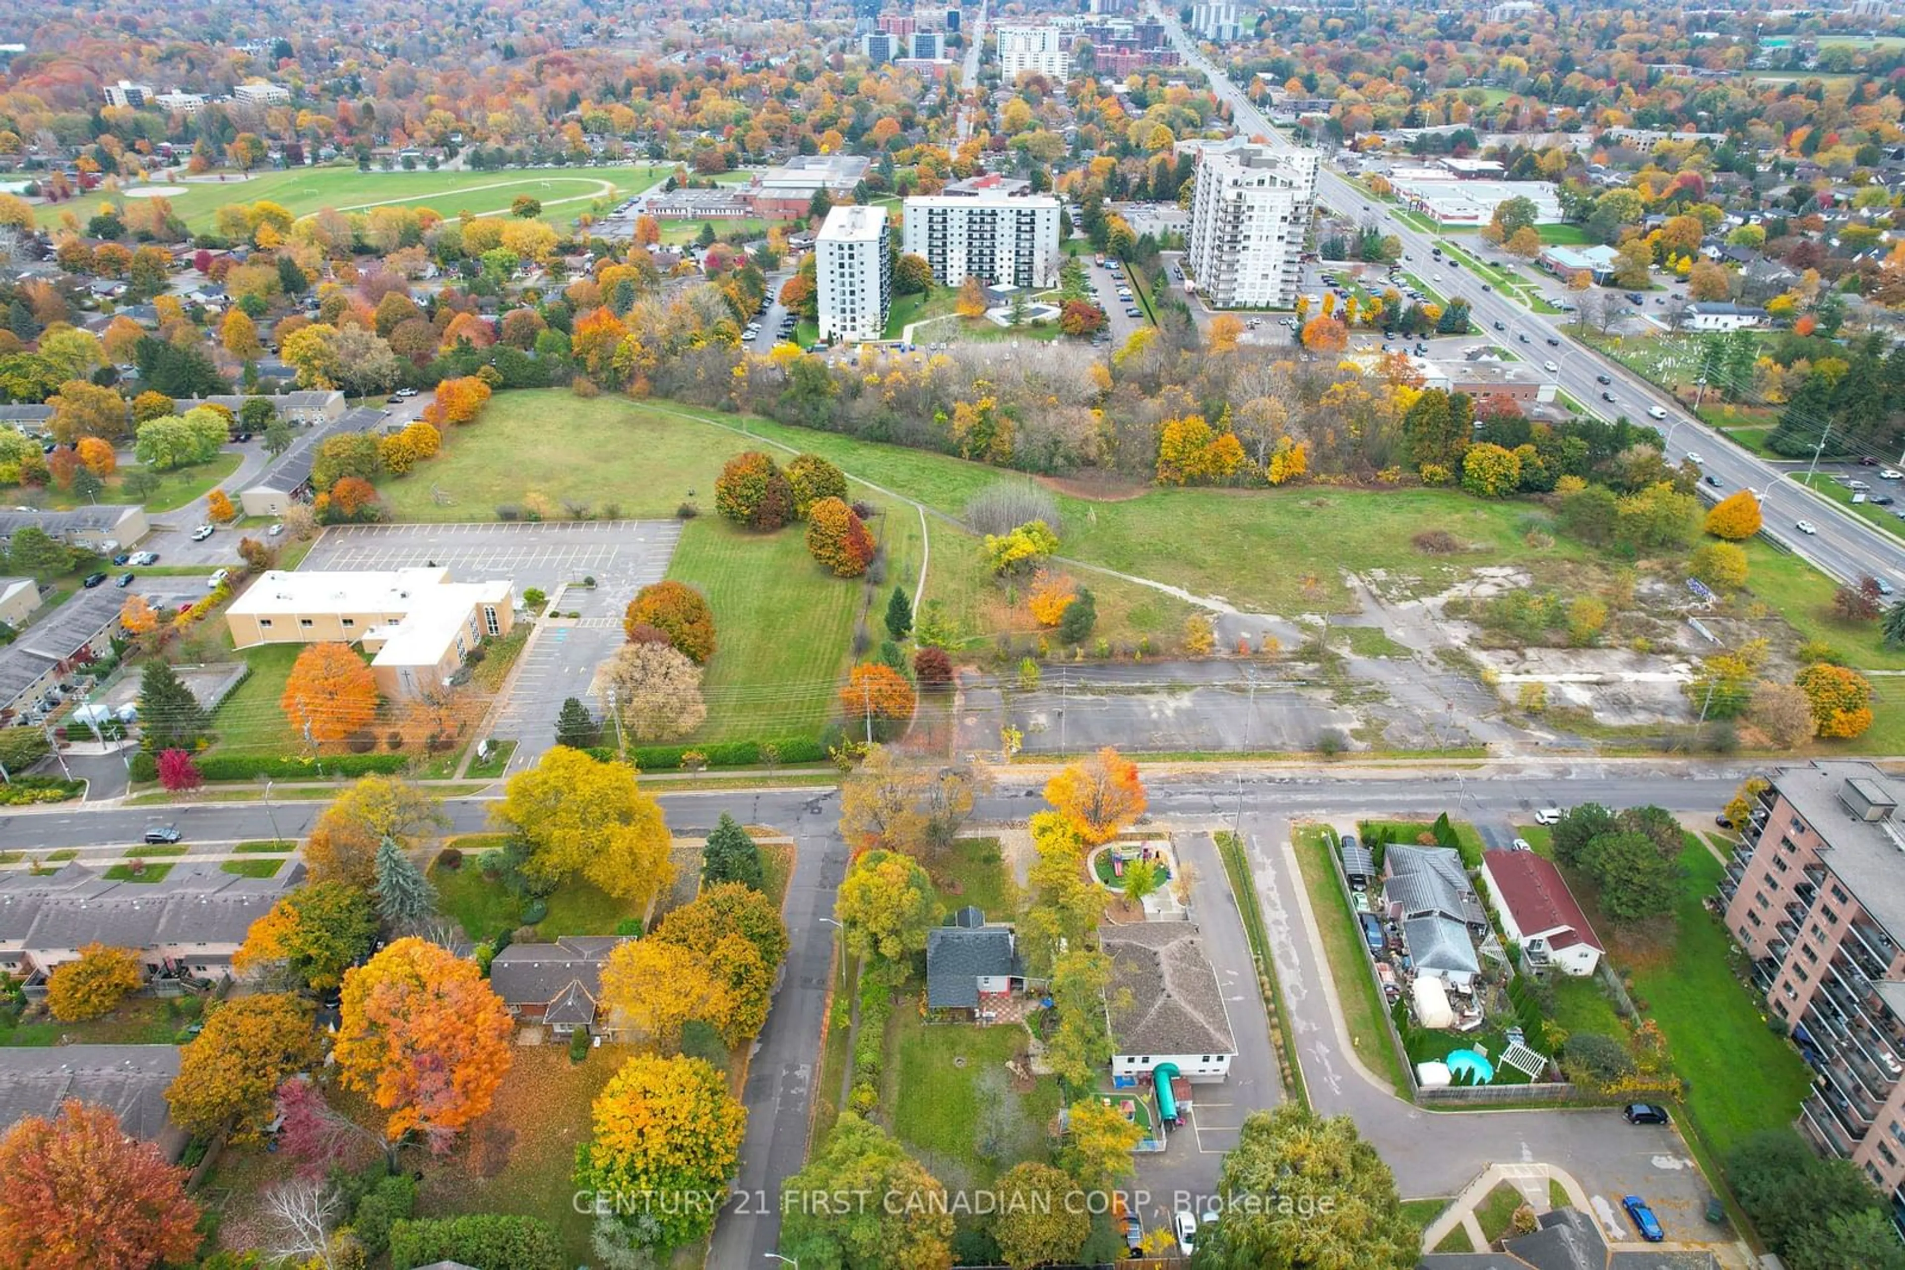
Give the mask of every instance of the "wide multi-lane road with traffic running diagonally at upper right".
MULTIPOLYGON (((1217 99, 1231 107, 1231 120, 1240 133, 1261 135, 1271 145, 1293 145, 1271 126, 1221 67, 1204 57, 1196 40, 1185 32, 1175 15, 1164 10, 1154 10, 1154 15, 1164 23, 1185 65, 1202 70, 1217 99)), ((1385 204, 1328 166, 1318 173, 1316 200, 1339 215, 1356 221, 1387 221, 1385 228, 1402 240, 1402 251, 1408 257, 1406 265, 1417 276, 1431 267, 1433 251, 1438 246, 1434 234, 1425 234, 1400 217, 1391 215, 1385 204)), ((1516 337, 1526 335, 1528 343, 1522 347, 1537 360, 1554 360, 1558 366, 1554 381, 1568 396, 1591 409, 1604 407, 1640 421, 1648 419, 1650 407, 1665 411, 1667 417, 1657 427, 1667 438, 1669 459, 1678 461, 1690 453, 1699 455, 1701 470, 1720 482, 1716 487, 1705 487, 1709 495, 1755 489, 1766 512, 1766 533, 1777 537, 1817 567, 1844 581, 1875 575, 1905 586, 1905 543, 1892 539, 1836 503, 1810 493, 1796 482, 1785 480, 1779 468, 1707 428, 1701 421, 1688 415, 1673 396, 1655 388, 1640 375, 1572 341, 1564 327, 1524 308, 1501 291, 1484 291, 1484 280, 1473 272, 1452 270, 1452 274, 1454 278, 1461 278, 1461 286, 1450 282, 1438 286, 1438 289, 1452 299, 1469 301, 1474 322, 1503 343, 1516 345, 1516 337), (1497 322, 1503 326, 1501 331, 1495 331, 1497 322), (1558 347, 1551 347, 1551 339, 1558 341, 1558 347), (1600 375, 1606 375, 1610 383, 1602 385, 1600 375), (1615 404, 1606 406, 1600 396, 1602 392, 1610 392, 1615 404), (1802 533, 1796 527, 1800 520, 1808 522, 1815 531, 1802 533)), ((1444 278, 1448 276, 1444 274, 1444 278)))

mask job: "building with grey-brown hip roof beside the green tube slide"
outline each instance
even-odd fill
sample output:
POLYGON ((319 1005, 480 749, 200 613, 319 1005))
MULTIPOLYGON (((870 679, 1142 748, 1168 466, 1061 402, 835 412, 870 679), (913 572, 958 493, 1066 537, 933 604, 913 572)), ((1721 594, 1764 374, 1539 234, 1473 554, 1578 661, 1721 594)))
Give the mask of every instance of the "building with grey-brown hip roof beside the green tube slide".
POLYGON ((1097 935, 1111 958, 1111 1074, 1141 1080, 1170 1062, 1196 1083, 1229 1076, 1236 1032, 1198 927, 1139 922, 1097 935))

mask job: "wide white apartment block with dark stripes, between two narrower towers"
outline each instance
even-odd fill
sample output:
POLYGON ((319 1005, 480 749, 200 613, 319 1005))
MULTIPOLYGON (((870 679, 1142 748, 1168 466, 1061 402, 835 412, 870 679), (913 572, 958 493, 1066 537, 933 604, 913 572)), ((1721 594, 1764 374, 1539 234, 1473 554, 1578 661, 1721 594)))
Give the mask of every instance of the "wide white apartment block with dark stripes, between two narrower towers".
POLYGON ((1059 280, 1059 200, 1050 194, 926 194, 907 200, 901 249, 956 288, 1050 288, 1059 280))

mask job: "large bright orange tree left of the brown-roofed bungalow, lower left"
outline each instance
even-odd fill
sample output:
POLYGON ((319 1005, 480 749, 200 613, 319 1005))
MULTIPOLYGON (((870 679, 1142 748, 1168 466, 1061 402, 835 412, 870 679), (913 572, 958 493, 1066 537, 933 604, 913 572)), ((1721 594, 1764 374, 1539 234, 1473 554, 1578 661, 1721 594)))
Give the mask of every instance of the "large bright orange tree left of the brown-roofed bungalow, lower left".
POLYGON ((444 1152, 490 1110, 511 1062, 514 1024, 474 962, 400 939, 345 973, 337 1070, 391 1112, 394 1142, 419 1131, 444 1152))

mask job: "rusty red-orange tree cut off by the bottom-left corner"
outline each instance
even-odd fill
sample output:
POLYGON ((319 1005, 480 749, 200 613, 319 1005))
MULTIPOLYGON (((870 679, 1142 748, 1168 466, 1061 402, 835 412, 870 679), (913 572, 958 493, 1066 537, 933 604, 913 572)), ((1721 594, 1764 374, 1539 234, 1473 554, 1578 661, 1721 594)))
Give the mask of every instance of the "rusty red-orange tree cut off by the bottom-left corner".
POLYGON ((17 1121, 0 1139, 0 1264, 147 1270, 198 1251, 185 1169, 105 1106, 69 1099, 57 1120, 17 1121))

